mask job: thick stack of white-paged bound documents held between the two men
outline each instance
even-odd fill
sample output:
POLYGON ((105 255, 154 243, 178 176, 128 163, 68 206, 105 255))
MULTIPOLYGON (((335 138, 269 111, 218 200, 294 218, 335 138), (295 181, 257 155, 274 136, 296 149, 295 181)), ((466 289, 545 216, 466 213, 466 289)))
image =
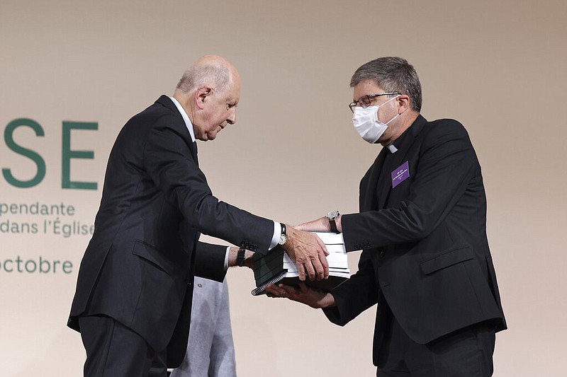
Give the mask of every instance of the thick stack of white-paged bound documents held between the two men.
MULTIPOLYGON (((305 281, 307 286, 330 291, 338 284, 349 279, 350 270, 347 259, 347 252, 344 249, 342 233, 314 232, 329 252, 327 262, 329 264, 329 278, 315 281, 305 281)), ((267 255, 255 254, 254 279, 257 288, 252 291, 252 295, 264 294, 264 288, 269 284, 287 284, 298 286, 300 279, 296 263, 282 248, 274 248, 267 255)))

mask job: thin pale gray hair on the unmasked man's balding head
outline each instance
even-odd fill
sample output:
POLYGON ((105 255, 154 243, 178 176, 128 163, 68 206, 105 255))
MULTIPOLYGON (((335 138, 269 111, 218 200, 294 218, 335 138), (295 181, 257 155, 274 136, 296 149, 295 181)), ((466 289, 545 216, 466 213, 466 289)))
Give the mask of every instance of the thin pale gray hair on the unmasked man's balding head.
POLYGON ((223 93, 230 81, 230 71, 223 64, 196 64, 187 69, 176 89, 180 89, 184 93, 201 88, 201 86, 210 86, 217 93, 223 93))

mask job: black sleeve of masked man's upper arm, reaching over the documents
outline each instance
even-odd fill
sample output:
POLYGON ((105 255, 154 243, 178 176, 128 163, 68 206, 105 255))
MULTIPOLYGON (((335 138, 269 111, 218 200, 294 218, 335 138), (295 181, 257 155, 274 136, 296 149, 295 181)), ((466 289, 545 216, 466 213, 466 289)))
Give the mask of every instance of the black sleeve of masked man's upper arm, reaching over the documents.
MULTIPOLYGON (((444 120, 427 134, 407 199, 395 207, 342 216, 347 250, 417 242, 429 235, 464 195, 476 154, 464 127, 444 120)), ((394 189, 395 190, 395 189, 394 189)))

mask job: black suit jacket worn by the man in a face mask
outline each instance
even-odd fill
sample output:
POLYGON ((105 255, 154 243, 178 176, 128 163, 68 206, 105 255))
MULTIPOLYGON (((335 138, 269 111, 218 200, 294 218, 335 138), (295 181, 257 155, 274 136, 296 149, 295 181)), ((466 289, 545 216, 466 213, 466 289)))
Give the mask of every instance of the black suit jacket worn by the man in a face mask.
POLYGON ((325 310, 344 325, 378 303, 375 365, 392 314, 421 344, 485 320, 506 328, 481 166, 466 130, 420 115, 398 140, 398 151, 384 148, 362 178, 360 213, 342 216, 347 250, 363 252, 357 274, 332 291, 337 307, 325 310), (410 176, 393 187, 391 172, 405 161, 410 176))

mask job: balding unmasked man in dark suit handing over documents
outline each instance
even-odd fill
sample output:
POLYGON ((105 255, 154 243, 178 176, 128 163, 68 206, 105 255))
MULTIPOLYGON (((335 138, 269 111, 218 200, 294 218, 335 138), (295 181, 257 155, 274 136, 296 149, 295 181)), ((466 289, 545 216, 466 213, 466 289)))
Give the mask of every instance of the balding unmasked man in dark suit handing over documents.
POLYGON ((235 67, 208 55, 172 97, 162 95, 118 134, 69 315, 86 349, 85 376, 165 376, 166 366, 178 366, 194 274, 222 282, 245 249, 279 244, 303 278, 328 277, 319 238, 220 202, 198 168, 195 140, 234 124, 239 98, 235 67), (200 243, 200 232, 240 249, 200 243))

